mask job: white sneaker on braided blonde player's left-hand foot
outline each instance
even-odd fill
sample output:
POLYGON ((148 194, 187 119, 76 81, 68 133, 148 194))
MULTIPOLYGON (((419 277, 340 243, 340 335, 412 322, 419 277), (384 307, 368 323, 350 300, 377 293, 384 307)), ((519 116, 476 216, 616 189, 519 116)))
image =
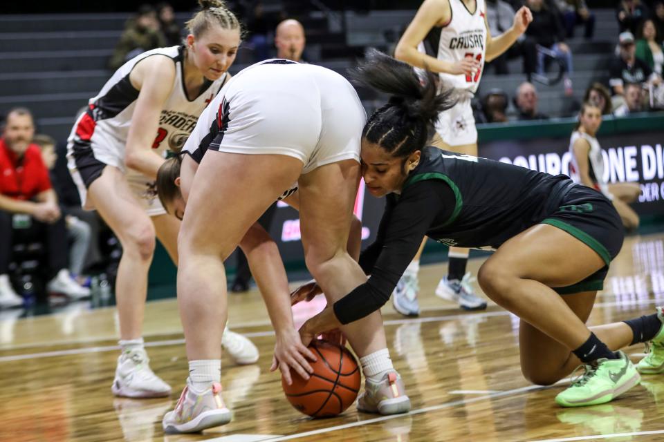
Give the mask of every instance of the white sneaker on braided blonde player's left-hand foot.
POLYGON ((150 369, 145 348, 132 349, 118 358, 116 378, 111 391, 128 398, 158 398, 169 396, 171 387, 150 369))

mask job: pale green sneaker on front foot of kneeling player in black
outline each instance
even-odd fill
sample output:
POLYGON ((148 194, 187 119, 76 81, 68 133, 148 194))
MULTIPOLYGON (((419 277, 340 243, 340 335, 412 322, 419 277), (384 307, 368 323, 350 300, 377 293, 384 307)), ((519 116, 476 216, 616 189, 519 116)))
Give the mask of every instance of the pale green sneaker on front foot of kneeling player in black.
POLYGON ((585 373, 555 396, 555 402, 562 407, 607 403, 638 385, 641 376, 636 367, 625 353, 618 354, 618 359, 600 358, 592 364, 582 365, 585 373))

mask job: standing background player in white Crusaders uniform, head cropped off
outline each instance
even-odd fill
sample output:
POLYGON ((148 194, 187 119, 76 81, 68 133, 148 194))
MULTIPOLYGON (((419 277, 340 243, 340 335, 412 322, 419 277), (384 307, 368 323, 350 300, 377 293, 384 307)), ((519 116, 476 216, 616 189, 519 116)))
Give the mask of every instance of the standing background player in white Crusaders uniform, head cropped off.
MULTIPOLYGON (((395 57, 438 73, 441 88, 454 88, 457 105, 443 111, 436 122, 432 145, 448 151, 477 156, 477 129, 470 100, 477 91, 484 64, 499 57, 522 35, 533 16, 523 7, 514 24, 492 37, 486 21, 485 0, 425 0, 405 30, 395 57)), ((440 88, 439 88, 440 90, 440 88)), ((399 281, 392 302, 406 316, 417 316, 420 307, 417 273, 426 238, 399 281)), ((450 247, 448 275, 436 287, 436 296, 459 302, 463 309, 485 309, 486 301, 474 294, 470 273, 465 273, 468 249, 450 247)))

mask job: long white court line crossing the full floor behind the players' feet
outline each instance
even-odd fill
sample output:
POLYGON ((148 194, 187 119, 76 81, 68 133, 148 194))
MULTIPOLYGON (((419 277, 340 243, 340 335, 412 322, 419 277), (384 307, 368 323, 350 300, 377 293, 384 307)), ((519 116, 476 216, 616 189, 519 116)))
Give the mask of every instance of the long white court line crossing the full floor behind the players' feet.
MULTIPOLYGON (((616 307, 617 305, 647 305, 647 304, 657 304, 661 302, 661 300, 654 300, 654 299, 649 299, 649 300, 631 300, 628 302, 624 301, 612 301, 612 302, 598 302, 595 304, 594 307, 616 307)), ((483 313, 461 313, 461 314, 452 314, 452 315, 444 315, 444 316, 430 316, 428 318, 403 318, 403 319, 391 319, 391 320, 385 320, 383 321, 384 325, 404 325, 404 324, 423 324, 423 323, 437 323, 441 322, 443 320, 455 320, 455 319, 461 319, 461 318, 490 318, 493 316, 509 316, 511 313, 506 310, 500 310, 500 311, 485 311, 483 313)), ((241 328, 241 326, 238 325, 238 327, 241 328)), ((237 327, 236 327, 237 328, 237 327)), ((274 336, 275 332, 273 330, 267 331, 267 332, 249 332, 249 333, 242 333, 243 336, 246 336, 247 338, 260 338, 264 336, 274 336)), ((112 338, 111 338, 112 339, 112 338)), ((108 340, 108 339, 104 339, 108 340)), ((164 347, 167 345, 182 345, 185 343, 184 338, 178 338, 178 339, 167 339, 167 340, 156 340, 156 341, 151 341, 145 343, 145 347, 164 347)), ((71 341, 66 344, 69 345, 75 345, 77 344, 76 341, 71 341)), ((59 345, 66 345, 66 344, 59 344, 59 345)), ((30 347, 34 347, 36 345, 30 345, 30 347)), ((42 345, 43 347, 50 347, 52 345, 42 345)), ((2 351, 11 351, 11 350, 19 350, 21 348, 26 348, 26 347, 4 347, 0 348, 2 351)), ((54 356, 67 356, 67 355, 72 355, 72 354, 89 354, 89 353, 98 353, 98 352, 111 352, 113 350, 118 350, 120 349, 119 345, 102 345, 98 347, 84 347, 84 348, 76 348, 76 349, 67 349, 67 350, 54 350, 53 352, 39 352, 39 353, 28 353, 28 354, 16 354, 16 355, 10 355, 10 356, 0 356, 0 363, 3 362, 11 362, 11 361, 23 361, 25 359, 37 359, 37 358, 50 358, 54 356)))

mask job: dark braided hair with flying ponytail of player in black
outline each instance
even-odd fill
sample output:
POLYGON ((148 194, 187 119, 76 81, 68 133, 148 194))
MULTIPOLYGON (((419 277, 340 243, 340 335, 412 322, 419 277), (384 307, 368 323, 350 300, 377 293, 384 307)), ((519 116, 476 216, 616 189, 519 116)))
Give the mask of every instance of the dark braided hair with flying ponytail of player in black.
POLYGON ((369 117, 362 137, 396 157, 421 150, 429 126, 439 113, 457 103, 452 88, 438 93, 433 73, 424 71, 421 79, 412 66, 376 49, 370 49, 350 75, 360 84, 391 95, 387 104, 369 117))

